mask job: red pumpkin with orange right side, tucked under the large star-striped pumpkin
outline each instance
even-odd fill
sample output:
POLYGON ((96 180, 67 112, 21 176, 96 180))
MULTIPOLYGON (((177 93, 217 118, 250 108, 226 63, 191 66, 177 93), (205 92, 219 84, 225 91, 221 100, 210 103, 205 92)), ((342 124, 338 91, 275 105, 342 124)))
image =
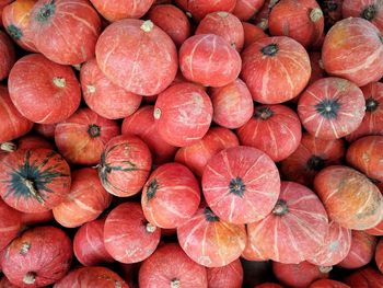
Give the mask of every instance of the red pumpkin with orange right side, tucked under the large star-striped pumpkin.
POLYGON ((181 247, 195 262, 206 267, 222 267, 235 261, 246 245, 244 224, 221 220, 202 205, 177 228, 181 247))

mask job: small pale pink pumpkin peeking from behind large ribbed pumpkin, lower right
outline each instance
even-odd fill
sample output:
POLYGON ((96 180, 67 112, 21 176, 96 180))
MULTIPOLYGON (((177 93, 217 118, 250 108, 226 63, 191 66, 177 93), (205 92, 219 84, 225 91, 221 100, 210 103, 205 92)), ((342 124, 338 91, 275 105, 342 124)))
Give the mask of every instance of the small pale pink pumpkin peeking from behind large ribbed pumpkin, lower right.
POLYGON ((307 261, 318 266, 334 266, 346 258, 351 247, 351 231, 330 221, 328 233, 322 245, 307 261))

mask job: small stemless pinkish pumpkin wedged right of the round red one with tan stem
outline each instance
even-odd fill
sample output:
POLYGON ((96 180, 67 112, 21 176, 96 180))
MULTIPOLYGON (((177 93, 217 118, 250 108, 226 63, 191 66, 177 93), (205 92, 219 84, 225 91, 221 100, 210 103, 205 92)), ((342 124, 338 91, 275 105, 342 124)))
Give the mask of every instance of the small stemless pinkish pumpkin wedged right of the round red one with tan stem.
POLYGON ((222 88, 212 88, 210 97, 213 107, 212 119, 222 127, 240 128, 253 115, 253 97, 241 79, 222 88))

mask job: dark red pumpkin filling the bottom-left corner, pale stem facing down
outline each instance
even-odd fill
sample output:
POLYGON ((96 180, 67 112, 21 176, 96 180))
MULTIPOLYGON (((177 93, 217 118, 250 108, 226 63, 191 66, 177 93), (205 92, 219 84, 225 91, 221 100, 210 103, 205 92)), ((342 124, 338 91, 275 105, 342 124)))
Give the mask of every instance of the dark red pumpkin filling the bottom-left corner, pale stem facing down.
POLYGON ((69 270, 72 244, 60 229, 45 226, 26 230, 2 255, 2 272, 21 287, 44 287, 61 279, 69 270))

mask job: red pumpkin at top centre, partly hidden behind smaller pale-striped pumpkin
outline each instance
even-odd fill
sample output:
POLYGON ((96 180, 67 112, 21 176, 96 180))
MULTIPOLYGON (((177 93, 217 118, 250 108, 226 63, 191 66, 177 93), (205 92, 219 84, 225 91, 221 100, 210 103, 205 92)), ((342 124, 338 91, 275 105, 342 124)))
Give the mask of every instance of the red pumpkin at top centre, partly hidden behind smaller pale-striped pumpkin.
POLYGON ((214 34, 241 51, 244 45, 244 31, 241 21, 233 14, 224 11, 207 14, 196 30, 198 34, 214 34))

